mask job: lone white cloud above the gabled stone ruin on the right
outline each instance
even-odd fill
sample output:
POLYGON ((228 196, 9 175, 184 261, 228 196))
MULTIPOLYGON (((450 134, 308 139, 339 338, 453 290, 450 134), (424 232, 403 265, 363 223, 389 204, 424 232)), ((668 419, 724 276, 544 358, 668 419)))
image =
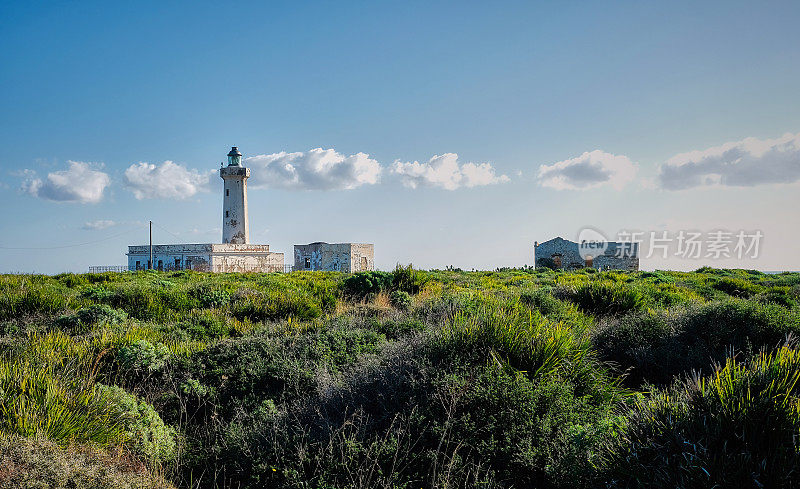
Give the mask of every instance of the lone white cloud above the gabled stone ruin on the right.
POLYGON ((621 190, 639 170, 627 156, 596 149, 577 158, 539 167, 539 184, 556 190, 586 190, 610 185, 621 190))

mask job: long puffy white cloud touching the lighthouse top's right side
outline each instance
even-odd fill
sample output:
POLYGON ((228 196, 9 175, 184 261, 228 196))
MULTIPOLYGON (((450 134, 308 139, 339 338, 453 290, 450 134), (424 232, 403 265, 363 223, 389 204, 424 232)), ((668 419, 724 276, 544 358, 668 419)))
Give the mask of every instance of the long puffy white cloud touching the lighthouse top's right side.
POLYGON ((250 186, 294 190, 350 190, 378 183, 382 171, 368 154, 345 156, 322 148, 251 156, 244 165, 252 168, 250 186))

